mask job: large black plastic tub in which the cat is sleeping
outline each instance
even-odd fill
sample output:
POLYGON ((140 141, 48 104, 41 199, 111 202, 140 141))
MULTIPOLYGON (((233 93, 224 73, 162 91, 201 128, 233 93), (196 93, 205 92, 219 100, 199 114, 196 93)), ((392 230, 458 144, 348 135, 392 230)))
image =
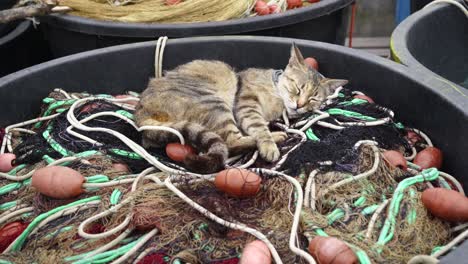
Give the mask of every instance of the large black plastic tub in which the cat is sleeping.
MULTIPOLYGON (((292 42, 314 56, 326 76, 346 78, 388 106, 396 118, 426 132, 445 153, 443 170, 468 186, 468 102, 455 91, 441 92, 417 72, 368 53, 305 40, 269 37, 199 37, 169 40, 164 69, 194 59, 217 59, 237 69, 283 68, 292 42), (275 54, 275 56, 271 56, 275 54)), ((53 88, 118 94, 142 91, 154 74, 155 42, 144 42, 60 58, 0 79, 0 126, 37 116, 42 98, 53 88)), ((468 189, 466 189, 468 190, 468 189)), ((466 263, 468 243, 442 263, 466 263)))

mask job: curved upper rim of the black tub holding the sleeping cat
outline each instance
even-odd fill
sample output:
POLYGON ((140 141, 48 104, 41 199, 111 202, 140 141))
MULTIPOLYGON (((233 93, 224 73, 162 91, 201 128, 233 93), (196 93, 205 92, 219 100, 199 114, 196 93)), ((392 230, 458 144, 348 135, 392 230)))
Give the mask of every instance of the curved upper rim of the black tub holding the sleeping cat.
MULTIPOLYGON (((314 47, 319 49, 327 49, 336 53, 344 54, 350 57, 354 57, 359 60, 367 61, 370 63, 383 66, 389 70, 396 71, 402 76, 411 79, 414 82, 420 83, 436 94, 437 96, 442 97, 444 100, 451 102, 460 112, 461 115, 468 118, 468 96, 460 96, 460 91, 454 89, 449 85, 445 80, 438 80, 431 75, 420 74, 417 70, 408 68, 404 65, 396 63, 394 61, 379 57, 374 54, 367 53, 365 51, 355 50, 348 47, 343 47, 340 45, 311 41, 311 40, 301 40, 293 38, 281 38, 281 37, 265 37, 265 36, 205 36, 205 37, 189 37, 189 38, 180 38, 180 39, 169 39, 167 45, 185 45, 189 43, 204 43, 204 42, 219 42, 219 43, 261 43, 263 45, 271 43, 279 44, 292 44, 293 42, 302 47, 314 47)), ((149 47, 154 49, 156 41, 145 41, 139 43, 131 43, 125 45, 112 46, 107 48, 101 48, 91 51, 86 51, 82 53, 77 53, 58 59, 54 59, 48 62, 44 62, 18 72, 6 75, 3 78, 0 78, 0 87, 6 85, 9 82, 13 82, 17 79, 25 77, 31 73, 40 72, 51 66, 58 66, 69 64, 71 62, 79 62, 80 60, 93 57, 100 54, 112 54, 113 56, 119 56, 119 52, 125 50, 131 50, 135 48, 145 48, 149 47)))

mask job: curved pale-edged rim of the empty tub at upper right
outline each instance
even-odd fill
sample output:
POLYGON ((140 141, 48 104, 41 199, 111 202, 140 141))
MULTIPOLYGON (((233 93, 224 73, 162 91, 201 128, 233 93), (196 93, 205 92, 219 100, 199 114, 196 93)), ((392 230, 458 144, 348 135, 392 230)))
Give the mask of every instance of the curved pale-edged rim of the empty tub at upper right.
POLYGON ((427 75, 427 78, 432 79, 433 81, 444 83, 444 87, 449 90, 455 90, 458 96, 464 98, 468 101, 468 88, 464 88, 443 76, 431 71, 424 64, 419 62, 408 50, 407 40, 411 34, 412 26, 417 22, 424 20, 427 17, 430 17, 434 12, 437 12, 444 8, 456 8, 451 4, 440 3, 437 5, 429 6, 423 8, 418 12, 412 14, 403 20, 392 32, 390 37, 390 52, 392 59, 398 63, 401 63, 405 66, 412 68, 413 70, 419 72, 419 74, 427 75))

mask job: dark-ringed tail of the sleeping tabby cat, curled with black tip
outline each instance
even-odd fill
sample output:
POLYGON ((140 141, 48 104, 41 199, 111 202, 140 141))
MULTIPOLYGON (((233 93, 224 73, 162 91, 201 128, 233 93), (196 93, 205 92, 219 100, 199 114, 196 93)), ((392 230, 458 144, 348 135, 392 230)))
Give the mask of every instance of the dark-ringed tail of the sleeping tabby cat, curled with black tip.
POLYGON ((187 169, 197 173, 214 173, 224 169, 228 148, 218 134, 191 122, 178 122, 171 127, 178 130, 188 143, 203 152, 200 155, 189 154, 185 157, 184 164, 187 169))

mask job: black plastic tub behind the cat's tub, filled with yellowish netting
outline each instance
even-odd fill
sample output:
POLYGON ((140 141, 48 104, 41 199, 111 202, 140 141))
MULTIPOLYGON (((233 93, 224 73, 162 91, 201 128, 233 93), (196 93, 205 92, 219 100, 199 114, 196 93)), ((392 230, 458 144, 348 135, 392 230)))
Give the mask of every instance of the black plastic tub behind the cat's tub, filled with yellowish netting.
POLYGON ((72 15, 43 19, 54 57, 82 51, 169 38, 214 35, 262 35, 343 44, 354 0, 322 0, 281 14, 191 24, 121 23, 72 15))

